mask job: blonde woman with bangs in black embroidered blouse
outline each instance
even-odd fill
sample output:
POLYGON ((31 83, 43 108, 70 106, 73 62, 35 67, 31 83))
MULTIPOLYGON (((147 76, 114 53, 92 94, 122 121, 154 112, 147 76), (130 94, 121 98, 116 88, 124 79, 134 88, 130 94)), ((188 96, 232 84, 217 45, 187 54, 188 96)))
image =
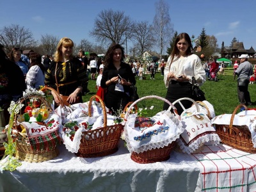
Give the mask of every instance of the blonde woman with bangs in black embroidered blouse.
MULTIPOLYGON (((81 61, 72 56, 73 47, 74 42, 70 38, 61 38, 54 54, 54 60, 45 73, 45 85, 56 90, 57 79, 60 94, 68 95, 67 101, 70 104, 83 102, 82 92, 86 84, 86 73, 81 61), (77 96, 79 96, 79 100, 76 99, 77 96)), ((55 102, 60 104, 60 100, 53 92, 52 95, 55 102)))

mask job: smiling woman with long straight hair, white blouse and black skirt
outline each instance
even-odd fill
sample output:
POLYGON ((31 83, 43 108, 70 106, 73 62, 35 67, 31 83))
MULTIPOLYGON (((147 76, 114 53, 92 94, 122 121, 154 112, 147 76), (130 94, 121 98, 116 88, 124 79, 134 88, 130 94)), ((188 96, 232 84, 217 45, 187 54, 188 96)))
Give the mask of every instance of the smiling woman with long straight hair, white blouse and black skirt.
MULTIPOLYGON (((190 37, 187 33, 180 33, 175 40, 175 47, 171 56, 168 58, 164 69, 164 84, 168 88, 166 99, 174 102, 182 97, 192 99, 192 77, 195 77, 196 83, 200 86, 205 82, 205 70, 202 67, 200 58, 193 54, 190 37)), ((191 106, 191 101, 182 100, 184 108, 191 106)), ((179 115, 183 109, 180 104, 175 104, 179 115)), ((164 102, 163 109, 166 110, 169 105, 164 102)))

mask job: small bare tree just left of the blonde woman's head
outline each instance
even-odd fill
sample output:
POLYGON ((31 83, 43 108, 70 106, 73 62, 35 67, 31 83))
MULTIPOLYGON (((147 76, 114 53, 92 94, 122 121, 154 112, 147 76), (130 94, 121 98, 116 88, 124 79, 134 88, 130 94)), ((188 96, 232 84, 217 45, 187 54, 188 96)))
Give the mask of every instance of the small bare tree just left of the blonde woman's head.
POLYGON ((43 54, 53 55, 56 51, 56 47, 58 45, 59 38, 53 35, 41 35, 41 48, 43 54))

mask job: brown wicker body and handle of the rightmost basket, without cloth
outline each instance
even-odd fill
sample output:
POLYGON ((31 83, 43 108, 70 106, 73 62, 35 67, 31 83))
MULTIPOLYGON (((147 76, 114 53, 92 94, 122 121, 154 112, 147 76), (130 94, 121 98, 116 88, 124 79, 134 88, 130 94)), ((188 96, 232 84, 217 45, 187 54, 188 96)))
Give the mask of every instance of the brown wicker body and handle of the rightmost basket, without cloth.
POLYGON ((234 126, 233 121, 237 113, 237 110, 244 107, 245 110, 248 108, 244 104, 240 104, 234 109, 232 116, 230 118, 229 125, 218 125, 216 124, 216 132, 220 136, 221 142, 230 147, 236 148, 238 150, 243 150, 251 154, 256 153, 256 148, 253 147, 252 134, 246 125, 234 126))

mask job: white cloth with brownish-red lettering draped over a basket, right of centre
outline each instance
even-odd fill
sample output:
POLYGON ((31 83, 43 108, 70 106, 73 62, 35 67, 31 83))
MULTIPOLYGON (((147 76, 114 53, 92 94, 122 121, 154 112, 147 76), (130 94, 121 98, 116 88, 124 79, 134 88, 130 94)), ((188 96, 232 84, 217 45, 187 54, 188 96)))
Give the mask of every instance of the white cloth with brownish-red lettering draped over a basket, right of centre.
POLYGON ((207 115, 195 112, 192 115, 181 116, 181 123, 185 131, 180 134, 177 143, 183 152, 191 154, 209 141, 212 145, 220 144, 220 137, 207 115))

